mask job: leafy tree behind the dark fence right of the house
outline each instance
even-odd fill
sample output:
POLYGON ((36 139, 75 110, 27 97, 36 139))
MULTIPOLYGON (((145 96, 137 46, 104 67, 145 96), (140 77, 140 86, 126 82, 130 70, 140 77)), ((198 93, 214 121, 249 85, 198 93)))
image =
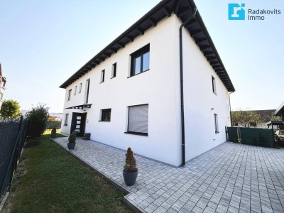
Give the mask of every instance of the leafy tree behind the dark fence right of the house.
POLYGON ((231 122, 232 124, 241 124, 244 127, 256 126, 256 124, 261 122, 261 116, 256 114, 255 111, 232 111, 231 112, 231 122))

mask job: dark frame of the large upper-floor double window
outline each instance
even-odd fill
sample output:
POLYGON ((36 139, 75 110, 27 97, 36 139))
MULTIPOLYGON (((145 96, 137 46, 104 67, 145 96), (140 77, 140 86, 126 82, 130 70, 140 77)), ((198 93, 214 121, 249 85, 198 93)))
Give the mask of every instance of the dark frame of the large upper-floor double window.
POLYGON ((143 72, 146 72, 148 70, 150 70, 150 43, 148 43, 147 45, 143 46, 143 48, 140 48, 139 50, 136 50, 134 53, 131 53, 131 67, 130 67, 130 77, 135 76, 135 75, 139 75, 143 72), (148 69, 143 70, 143 55, 145 55, 146 53, 149 53, 149 58, 148 58, 148 69), (138 73, 135 73, 135 60, 136 58, 141 58, 140 59, 140 70, 138 73))

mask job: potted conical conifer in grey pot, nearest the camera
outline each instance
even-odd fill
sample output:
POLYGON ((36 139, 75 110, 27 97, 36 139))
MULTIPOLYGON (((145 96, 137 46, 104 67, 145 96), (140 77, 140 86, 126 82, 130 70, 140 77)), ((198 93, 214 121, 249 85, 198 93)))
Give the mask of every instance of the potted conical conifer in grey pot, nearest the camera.
POLYGON ((136 182, 138 175, 138 169, 136 165, 136 160, 133 156, 133 151, 129 147, 125 154, 125 165, 124 165, 124 182, 126 185, 133 185, 136 182))

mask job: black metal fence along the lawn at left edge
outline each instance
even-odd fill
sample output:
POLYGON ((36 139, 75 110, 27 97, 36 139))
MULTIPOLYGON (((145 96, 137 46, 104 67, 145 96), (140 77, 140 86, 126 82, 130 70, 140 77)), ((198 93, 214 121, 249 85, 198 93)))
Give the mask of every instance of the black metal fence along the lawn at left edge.
POLYGON ((9 190, 26 141, 27 119, 0 120, 0 197, 9 190))

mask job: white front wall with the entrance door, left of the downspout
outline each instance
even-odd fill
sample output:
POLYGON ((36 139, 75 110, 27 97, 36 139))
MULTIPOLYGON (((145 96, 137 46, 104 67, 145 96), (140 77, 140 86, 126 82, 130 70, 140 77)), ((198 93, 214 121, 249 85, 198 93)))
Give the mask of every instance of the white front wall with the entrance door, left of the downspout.
POLYGON ((148 158, 160 160, 171 165, 180 165, 180 128, 177 122, 179 103, 178 73, 178 31, 173 31, 176 16, 164 18, 155 28, 148 29, 133 43, 129 43, 118 53, 111 55, 100 65, 66 88, 62 124, 69 113, 67 126, 62 132, 70 133, 72 112, 87 112, 86 132, 91 139, 126 150, 148 158), (129 77, 130 54, 150 43, 150 70, 129 77), (111 78, 112 64, 116 62, 116 77, 111 78), (105 70, 104 82, 100 84, 101 71, 105 70), (129 78, 128 78, 129 77, 129 78), (65 109, 84 103, 85 83, 90 78, 89 104, 91 109, 65 109), (82 82, 81 94, 74 95, 74 89, 82 82), (67 92, 72 89, 72 97, 66 102, 67 92), (127 129, 128 106, 149 104, 148 136, 124 133, 127 129), (99 121, 100 110, 111 108, 111 121, 99 121), (177 111, 178 110, 178 111, 177 111))

